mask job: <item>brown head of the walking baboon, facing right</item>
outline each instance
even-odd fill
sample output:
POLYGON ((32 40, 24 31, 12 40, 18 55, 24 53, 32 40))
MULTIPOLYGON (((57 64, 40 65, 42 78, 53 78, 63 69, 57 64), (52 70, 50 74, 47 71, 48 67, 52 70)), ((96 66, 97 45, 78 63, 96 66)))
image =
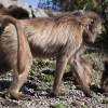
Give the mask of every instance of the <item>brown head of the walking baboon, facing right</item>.
POLYGON ((87 23, 85 23, 83 38, 87 42, 94 42, 97 35, 102 33, 102 19, 94 12, 86 12, 82 17, 86 17, 87 23), (86 25, 87 24, 87 25, 86 25))

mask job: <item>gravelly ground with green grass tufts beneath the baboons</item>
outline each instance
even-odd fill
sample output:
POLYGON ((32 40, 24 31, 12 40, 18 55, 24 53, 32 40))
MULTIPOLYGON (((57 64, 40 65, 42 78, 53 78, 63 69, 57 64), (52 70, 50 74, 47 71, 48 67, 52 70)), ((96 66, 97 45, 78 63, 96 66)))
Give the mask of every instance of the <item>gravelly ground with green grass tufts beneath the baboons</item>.
MULTIPOLYGON (((11 81, 11 73, 8 73, 0 79, 0 108, 108 108, 108 95, 102 94, 99 89, 106 54, 103 51, 85 54, 94 68, 91 83, 93 97, 86 97, 73 78, 66 76, 67 73, 60 85, 63 94, 56 98, 51 97, 55 60, 35 60, 28 80, 22 87, 22 91, 31 97, 27 100, 12 99, 6 90, 11 81)), ((66 70, 68 69, 67 67, 66 70)))

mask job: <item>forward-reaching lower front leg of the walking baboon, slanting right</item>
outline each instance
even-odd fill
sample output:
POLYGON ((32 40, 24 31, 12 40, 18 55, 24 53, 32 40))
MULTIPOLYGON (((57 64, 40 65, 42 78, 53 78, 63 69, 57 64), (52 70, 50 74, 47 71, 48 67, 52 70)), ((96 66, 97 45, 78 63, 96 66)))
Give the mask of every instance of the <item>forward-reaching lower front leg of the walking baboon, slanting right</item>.
POLYGON ((72 72, 75 72, 75 76, 78 79, 84 94, 91 97, 90 86, 87 84, 85 75, 83 72, 84 71, 83 66, 81 65, 79 58, 76 58, 76 59, 71 58, 71 60, 69 62, 69 65, 71 67, 71 70, 73 70, 72 72))

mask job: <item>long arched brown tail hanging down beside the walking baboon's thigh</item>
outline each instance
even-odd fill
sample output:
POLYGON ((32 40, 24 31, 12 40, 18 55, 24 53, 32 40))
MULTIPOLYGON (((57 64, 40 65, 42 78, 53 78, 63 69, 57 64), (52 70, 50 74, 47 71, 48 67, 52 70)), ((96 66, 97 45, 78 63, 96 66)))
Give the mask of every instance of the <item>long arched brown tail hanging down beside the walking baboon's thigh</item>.
POLYGON ((25 37, 23 33, 22 26, 19 25, 18 19, 4 15, 2 17, 2 26, 6 24, 13 24, 16 28, 17 33, 17 71, 22 73, 25 70, 25 58, 26 58, 26 44, 25 44, 25 37))

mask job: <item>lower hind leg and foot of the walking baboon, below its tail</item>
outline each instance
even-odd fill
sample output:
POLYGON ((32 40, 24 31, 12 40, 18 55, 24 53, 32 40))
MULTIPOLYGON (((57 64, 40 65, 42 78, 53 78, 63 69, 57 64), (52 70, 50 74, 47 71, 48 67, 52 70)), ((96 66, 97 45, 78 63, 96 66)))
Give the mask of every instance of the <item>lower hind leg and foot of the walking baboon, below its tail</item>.
MULTIPOLYGON (((29 50, 29 49, 27 48, 27 50, 29 50)), ((27 55, 26 55, 25 70, 22 73, 19 73, 17 71, 13 72, 13 81, 11 83, 9 91, 10 91, 11 95, 16 99, 26 99, 28 97, 28 96, 24 95, 23 93, 21 93, 19 89, 22 87, 22 85, 24 84, 24 82, 27 79, 31 64, 32 64, 32 56, 29 51, 29 52, 27 52, 27 55)))

